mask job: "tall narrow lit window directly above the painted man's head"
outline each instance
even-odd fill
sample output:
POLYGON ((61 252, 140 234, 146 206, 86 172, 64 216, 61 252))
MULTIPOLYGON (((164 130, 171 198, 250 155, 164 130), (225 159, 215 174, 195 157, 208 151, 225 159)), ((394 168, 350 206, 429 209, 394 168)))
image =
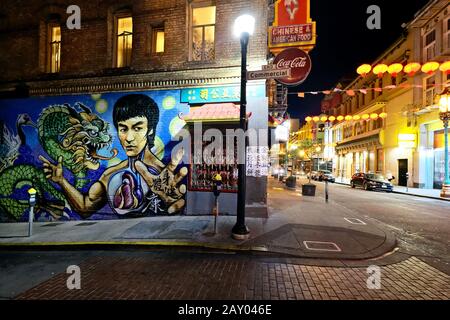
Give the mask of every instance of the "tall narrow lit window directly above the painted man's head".
POLYGON ((133 18, 119 17, 116 21, 116 67, 128 67, 131 64, 133 47, 133 18))

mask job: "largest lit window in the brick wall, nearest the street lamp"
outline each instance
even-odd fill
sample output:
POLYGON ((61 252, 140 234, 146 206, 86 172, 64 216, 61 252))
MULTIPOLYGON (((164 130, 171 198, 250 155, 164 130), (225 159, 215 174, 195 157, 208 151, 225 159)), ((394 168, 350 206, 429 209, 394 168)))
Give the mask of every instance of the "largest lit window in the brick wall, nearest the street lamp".
POLYGON ((216 7, 193 7, 191 60, 214 60, 216 7))

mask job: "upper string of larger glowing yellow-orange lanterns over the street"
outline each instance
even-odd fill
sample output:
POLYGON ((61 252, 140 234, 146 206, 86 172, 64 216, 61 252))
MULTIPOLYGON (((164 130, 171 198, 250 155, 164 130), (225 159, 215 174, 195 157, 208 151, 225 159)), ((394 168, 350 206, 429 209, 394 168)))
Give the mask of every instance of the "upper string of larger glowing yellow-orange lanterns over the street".
POLYGON ((450 61, 439 63, 436 61, 429 61, 421 65, 418 62, 410 62, 403 66, 401 63, 393 63, 391 65, 386 65, 384 63, 377 64, 372 68, 370 64, 363 64, 356 69, 356 72, 365 77, 371 71, 373 74, 377 75, 378 78, 382 78, 386 72, 388 72, 392 77, 396 77, 400 72, 405 72, 408 76, 413 77, 419 70, 428 75, 433 74, 433 72, 440 70, 445 74, 450 74, 450 61))

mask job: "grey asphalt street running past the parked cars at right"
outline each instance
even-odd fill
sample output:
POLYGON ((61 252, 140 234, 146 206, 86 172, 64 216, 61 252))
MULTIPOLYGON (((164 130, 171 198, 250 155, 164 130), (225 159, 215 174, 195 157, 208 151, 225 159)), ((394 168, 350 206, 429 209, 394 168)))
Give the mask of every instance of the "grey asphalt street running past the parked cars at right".
MULTIPOLYGON (((314 183, 316 196, 324 197, 324 183, 314 183)), ((344 206, 363 220, 376 220, 396 235, 401 252, 450 274, 450 202, 330 183, 329 204, 344 206)))

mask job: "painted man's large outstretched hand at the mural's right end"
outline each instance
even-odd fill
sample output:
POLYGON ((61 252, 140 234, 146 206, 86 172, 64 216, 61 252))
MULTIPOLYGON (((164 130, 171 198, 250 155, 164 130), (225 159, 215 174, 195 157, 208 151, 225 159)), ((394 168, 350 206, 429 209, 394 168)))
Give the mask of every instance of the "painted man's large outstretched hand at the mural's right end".
POLYGON ((186 177, 188 169, 182 167, 177 173, 175 172, 183 158, 183 154, 184 151, 180 149, 159 175, 151 174, 141 161, 136 161, 135 163, 136 170, 145 180, 150 190, 166 203, 169 214, 178 212, 185 205, 185 200, 182 198, 186 193, 186 185, 181 184, 178 186, 178 184, 186 177))

